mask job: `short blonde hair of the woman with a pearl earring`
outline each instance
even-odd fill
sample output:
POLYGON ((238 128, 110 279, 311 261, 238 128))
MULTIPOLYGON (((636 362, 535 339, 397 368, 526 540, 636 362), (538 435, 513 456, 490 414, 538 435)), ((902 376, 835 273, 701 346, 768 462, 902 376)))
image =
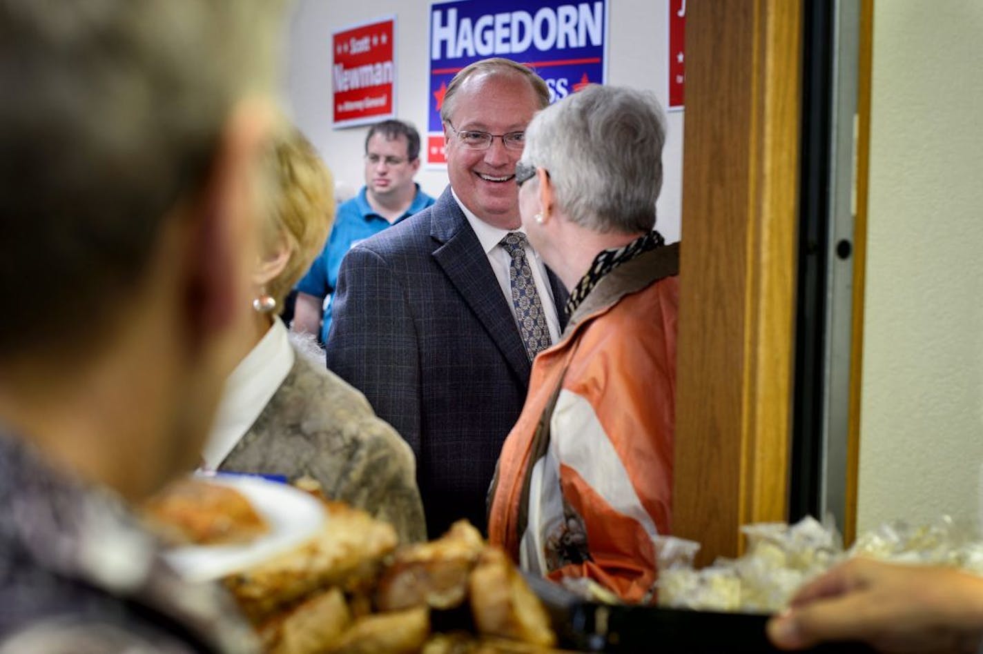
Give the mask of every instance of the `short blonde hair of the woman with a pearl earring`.
POLYGON ((334 181, 311 142, 292 126, 281 129, 270 163, 270 209, 260 247, 264 256, 275 256, 284 246, 290 253, 283 271, 266 283, 266 293, 282 306, 327 239, 334 222, 334 181))

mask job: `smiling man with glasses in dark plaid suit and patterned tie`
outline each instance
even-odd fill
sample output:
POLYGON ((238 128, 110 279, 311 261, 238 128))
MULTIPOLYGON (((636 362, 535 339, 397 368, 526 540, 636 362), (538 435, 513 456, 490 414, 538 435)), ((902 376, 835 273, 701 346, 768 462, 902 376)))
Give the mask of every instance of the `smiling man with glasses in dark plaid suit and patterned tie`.
POLYGON ((484 531, 531 361, 562 330, 566 293, 521 232, 515 184, 526 126, 548 103, 515 62, 458 73, 440 110, 450 187, 353 248, 338 276, 327 365, 413 448, 431 536, 457 518, 484 531))

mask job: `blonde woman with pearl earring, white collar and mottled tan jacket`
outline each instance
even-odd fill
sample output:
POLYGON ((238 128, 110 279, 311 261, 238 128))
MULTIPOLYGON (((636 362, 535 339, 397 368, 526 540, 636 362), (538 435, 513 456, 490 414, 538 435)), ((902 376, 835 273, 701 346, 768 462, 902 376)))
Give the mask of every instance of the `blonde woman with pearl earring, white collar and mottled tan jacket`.
POLYGON ((271 203, 253 272, 253 338, 226 383, 203 466, 313 478, 328 498, 390 522, 400 540, 423 540, 410 446, 365 396, 324 367, 316 337, 289 333, 276 315, 324 244, 334 189, 296 129, 284 130, 270 158, 271 203))

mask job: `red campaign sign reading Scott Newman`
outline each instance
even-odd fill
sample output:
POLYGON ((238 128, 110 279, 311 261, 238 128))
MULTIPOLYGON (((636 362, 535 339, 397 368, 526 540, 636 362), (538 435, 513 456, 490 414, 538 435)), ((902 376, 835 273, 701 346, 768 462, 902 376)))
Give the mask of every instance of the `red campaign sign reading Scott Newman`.
POLYGON ((332 127, 365 125, 395 116, 395 33, 395 17, 332 33, 332 127))

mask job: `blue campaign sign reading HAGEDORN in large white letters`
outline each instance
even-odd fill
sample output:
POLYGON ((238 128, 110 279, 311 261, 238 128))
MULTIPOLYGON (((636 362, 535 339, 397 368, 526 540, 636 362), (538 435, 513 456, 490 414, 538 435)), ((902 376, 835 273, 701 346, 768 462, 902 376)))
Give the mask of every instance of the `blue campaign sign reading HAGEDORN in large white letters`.
POLYGON ((505 57, 533 68, 549 100, 605 82, 607 0, 452 0, 430 17, 428 166, 446 163, 440 107, 454 75, 480 59, 505 57))

